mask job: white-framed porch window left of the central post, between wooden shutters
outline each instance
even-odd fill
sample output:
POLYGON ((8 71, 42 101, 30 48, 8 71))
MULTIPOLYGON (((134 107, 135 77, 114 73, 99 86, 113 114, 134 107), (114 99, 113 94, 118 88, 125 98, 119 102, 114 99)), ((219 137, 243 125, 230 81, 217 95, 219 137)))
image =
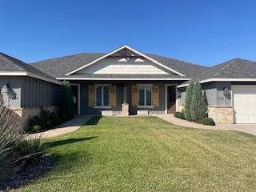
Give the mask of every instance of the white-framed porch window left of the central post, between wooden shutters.
POLYGON ((96 106, 110 106, 110 86, 96 86, 96 106))

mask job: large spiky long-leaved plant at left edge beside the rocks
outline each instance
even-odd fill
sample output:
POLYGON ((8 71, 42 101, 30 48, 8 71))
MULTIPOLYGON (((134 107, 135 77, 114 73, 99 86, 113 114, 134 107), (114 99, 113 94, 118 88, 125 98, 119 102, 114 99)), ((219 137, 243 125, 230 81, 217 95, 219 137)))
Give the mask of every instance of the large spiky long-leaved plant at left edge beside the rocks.
POLYGON ((26 138, 21 125, 21 118, 4 105, 0 94, 0 184, 17 170, 19 162, 36 162, 44 153, 41 138, 26 138))

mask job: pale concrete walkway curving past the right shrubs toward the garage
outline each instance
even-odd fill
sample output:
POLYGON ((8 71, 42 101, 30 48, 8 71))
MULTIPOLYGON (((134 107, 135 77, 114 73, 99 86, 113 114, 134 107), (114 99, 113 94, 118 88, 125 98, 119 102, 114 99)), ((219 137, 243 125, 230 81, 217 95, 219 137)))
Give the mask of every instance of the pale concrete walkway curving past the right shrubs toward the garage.
POLYGON ((205 126, 195 122, 188 122, 180 118, 175 118, 173 114, 156 114, 155 116, 177 126, 186 126, 189 128, 205 130, 237 130, 246 134, 256 135, 256 124, 218 124, 216 126, 205 126))

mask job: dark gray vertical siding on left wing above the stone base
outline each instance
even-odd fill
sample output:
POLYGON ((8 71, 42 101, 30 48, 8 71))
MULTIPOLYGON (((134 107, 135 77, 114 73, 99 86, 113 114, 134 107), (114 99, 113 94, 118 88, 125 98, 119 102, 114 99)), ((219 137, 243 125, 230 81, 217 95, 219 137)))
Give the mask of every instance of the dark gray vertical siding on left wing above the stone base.
POLYGON ((0 77, 0 88, 10 85, 10 97, 3 94, 6 106, 11 108, 57 106, 56 84, 30 77, 0 77))

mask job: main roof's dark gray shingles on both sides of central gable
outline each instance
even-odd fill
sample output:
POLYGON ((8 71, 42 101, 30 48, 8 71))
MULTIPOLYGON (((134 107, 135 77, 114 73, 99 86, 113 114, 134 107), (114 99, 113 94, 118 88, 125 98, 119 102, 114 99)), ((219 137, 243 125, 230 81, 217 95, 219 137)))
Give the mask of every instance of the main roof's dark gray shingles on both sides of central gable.
MULTIPOLYGON (((53 58, 44 60, 41 62, 31 63, 38 70, 44 71, 55 78, 63 77, 65 74, 72 70, 76 70, 81 66, 86 65, 89 62, 94 61, 97 58, 102 57, 104 54, 74 54, 62 58, 53 58)), ((205 70, 206 66, 198 66, 188 62, 182 62, 172 58, 164 58, 155 54, 146 54, 148 57, 161 62, 163 65, 170 67, 173 70, 177 70, 181 74, 185 74, 186 78, 194 77, 202 70, 205 70)), ((170 75, 174 76, 174 75, 170 75)), ((181 77, 178 76, 177 77, 181 77)), ((184 77, 183 77, 184 78, 184 77)))

